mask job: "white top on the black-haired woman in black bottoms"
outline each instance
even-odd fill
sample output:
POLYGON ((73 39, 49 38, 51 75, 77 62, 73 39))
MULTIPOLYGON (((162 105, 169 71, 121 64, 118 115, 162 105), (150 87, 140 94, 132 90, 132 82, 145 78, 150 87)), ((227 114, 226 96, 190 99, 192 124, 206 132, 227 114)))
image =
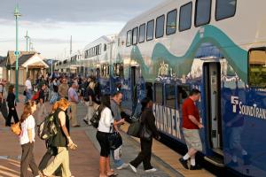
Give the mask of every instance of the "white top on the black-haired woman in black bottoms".
POLYGON ((110 127, 112 127, 112 124, 113 124, 112 112, 111 112, 111 110, 109 108, 106 107, 101 112, 101 118, 100 118, 100 120, 98 122, 98 131, 109 133, 110 132, 110 127))

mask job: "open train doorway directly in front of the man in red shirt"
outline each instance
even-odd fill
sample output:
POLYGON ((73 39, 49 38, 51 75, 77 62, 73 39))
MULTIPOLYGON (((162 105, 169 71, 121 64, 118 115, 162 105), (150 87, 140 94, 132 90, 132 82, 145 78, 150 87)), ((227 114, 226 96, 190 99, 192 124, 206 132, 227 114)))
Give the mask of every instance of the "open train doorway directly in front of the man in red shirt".
POLYGON ((221 65, 218 62, 205 63, 203 71, 206 96, 207 142, 209 149, 214 154, 210 158, 215 160, 216 165, 223 165, 221 65))

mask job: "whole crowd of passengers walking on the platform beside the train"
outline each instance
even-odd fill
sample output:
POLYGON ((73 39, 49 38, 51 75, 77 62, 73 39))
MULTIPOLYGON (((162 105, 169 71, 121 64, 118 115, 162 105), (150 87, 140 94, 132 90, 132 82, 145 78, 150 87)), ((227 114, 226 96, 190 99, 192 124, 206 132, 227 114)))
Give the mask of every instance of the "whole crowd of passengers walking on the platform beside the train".
MULTIPOLYGON (((20 122, 21 134, 20 144, 22 147, 21 156, 21 174, 20 176, 27 176, 27 167, 29 166, 34 176, 51 176, 56 174, 63 177, 73 176, 69 168, 68 150, 76 148, 76 145, 70 137, 70 127, 80 127, 77 121, 77 104, 83 103, 87 107, 87 113, 83 121, 90 126, 90 119, 94 112, 98 110, 101 105, 104 109, 100 112, 100 119, 97 131, 97 140, 101 147, 99 158, 99 177, 116 176, 110 165, 110 155, 113 159, 113 164, 117 170, 124 168, 131 169, 137 173, 137 166, 143 163, 145 172, 155 172, 157 169, 151 165, 153 138, 160 139, 160 134, 155 126, 155 117, 153 115, 153 100, 150 97, 145 97, 141 101, 141 125, 142 129, 147 129, 150 132, 149 138, 142 136, 140 133, 141 151, 137 158, 129 163, 125 163, 122 158, 114 158, 114 150, 111 150, 108 142, 108 136, 113 131, 120 133, 121 125, 124 124, 125 119, 121 113, 122 93, 117 91, 112 96, 101 96, 99 83, 96 78, 81 78, 81 77, 43 77, 40 76, 35 88, 31 83, 31 78, 28 77, 25 82, 25 107, 23 113, 18 116, 16 111, 16 96, 15 89, 11 85, 8 92, 5 90, 6 81, 3 80, 0 84, 0 99, 3 107, 4 102, 8 105, 8 114, 5 115, 5 126, 12 125, 12 117, 14 123, 20 122), (35 91, 35 94, 33 94, 35 91), (56 95, 53 100, 52 96, 56 95), (51 102, 51 100, 53 100, 51 102), (51 112, 47 111, 46 101, 52 104, 51 112), (36 118, 33 113, 36 111, 36 118), (45 118, 53 115, 55 125, 58 128, 58 134, 51 139, 45 141, 47 152, 39 165, 35 163, 34 157, 34 142, 35 142, 35 124, 39 127, 45 118), (52 160, 51 158, 54 157, 52 160), (51 163, 49 164, 49 161, 51 163)), ((186 99, 183 106, 184 114, 184 138, 188 146, 188 153, 179 161, 185 168, 188 159, 191 159, 191 170, 200 169, 199 165, 195 164, 195 153, 202 149, 200 142, 199 128, 202 128, 200 123, 199 112, 194 102, 200 99, 200 91, 192 90, 190 97, 186 99), (196 145, 197 146, 196 146, 196 145)), ((4 112, 1 108, 1 112, 4 112)))

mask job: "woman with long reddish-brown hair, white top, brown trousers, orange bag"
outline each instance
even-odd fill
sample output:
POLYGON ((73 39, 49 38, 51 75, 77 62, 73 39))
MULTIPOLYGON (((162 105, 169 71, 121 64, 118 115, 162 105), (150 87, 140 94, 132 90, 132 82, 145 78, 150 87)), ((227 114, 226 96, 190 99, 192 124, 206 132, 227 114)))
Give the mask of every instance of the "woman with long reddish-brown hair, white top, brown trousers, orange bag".
POLYGON ((27 167, 29 166, 35 177, 39 177, 39 170, 35 163, 34 144, 35 144, 35 118, 33 113, 36 110, 36 104, 28 101, 25 104, 23 113, 20 118, 21 133, 20 144, 22 155, 20 160, 20 177, 27 177, 27 167))

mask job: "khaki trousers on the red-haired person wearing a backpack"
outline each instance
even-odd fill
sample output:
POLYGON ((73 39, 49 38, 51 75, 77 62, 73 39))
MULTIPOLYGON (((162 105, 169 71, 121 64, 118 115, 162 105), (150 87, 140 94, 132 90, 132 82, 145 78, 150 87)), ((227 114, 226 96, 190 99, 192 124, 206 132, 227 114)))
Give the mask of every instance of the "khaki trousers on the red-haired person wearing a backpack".
POLYGON ((58 147, 58 155, 51 161, 51 164, 43 170, 43 173, 46 176, 51 176, 51 174, 58 169, 59 165, 62 166, 62 177, 70 177, 69 154, 66 147, 58 147))

